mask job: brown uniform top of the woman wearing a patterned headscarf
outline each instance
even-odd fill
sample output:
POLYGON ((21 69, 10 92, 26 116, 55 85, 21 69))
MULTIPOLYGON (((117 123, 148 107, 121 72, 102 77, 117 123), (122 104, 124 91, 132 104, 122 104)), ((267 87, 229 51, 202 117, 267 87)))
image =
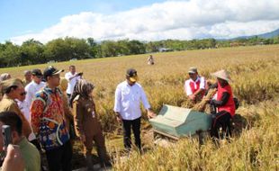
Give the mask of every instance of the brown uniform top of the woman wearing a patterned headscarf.
POLYGON ((81 135, 92 137, 102 131, 93 99, 85 99, 77 95, 73 102, 73 113, 78 137, 81 135))

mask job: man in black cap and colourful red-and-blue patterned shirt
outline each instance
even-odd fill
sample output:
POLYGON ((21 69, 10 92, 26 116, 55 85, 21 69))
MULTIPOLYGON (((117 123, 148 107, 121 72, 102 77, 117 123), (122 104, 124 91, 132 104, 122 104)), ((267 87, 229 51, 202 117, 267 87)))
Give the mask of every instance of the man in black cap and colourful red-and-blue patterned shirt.
POLYGON ((66 128, 62 92, 58 85, 60 72, 49 66, 43 76, 47 85, 35 94, 31 103, 31 125, 46 150, 49 170, 71 170, 72 147, 66 128))

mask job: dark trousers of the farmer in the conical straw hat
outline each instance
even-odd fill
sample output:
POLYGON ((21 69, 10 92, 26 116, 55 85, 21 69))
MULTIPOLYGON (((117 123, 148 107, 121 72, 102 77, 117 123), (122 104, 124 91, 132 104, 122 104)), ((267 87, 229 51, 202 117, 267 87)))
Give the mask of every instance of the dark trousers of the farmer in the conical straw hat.
POLYGON ((220 111, 216 114, 212 114, 211 137, 220 139, 220 128, 222 128, 222 132, 225 132, 226 137, 231 136, 230 119, 231 116, 229 112, 226 111, 220 111))

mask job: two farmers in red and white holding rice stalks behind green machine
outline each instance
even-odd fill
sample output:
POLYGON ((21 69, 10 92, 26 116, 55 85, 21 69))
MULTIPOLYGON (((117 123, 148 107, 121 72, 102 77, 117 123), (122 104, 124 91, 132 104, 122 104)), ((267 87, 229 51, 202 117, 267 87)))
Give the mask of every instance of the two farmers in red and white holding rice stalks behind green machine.
POLYGON ((220 128, 225 132, 226 137, 231 136, 230 121, 235 115, 236 104, 229 85, 231 80, 228 72, 220 70, 212 73, 211 76, 217 77, 215 83, 206 81, 203 76, 200 76, 196 67, 190 67, 188 74, 190 78, 184 82, 184 92, 193 103, 201 102, 210 89, 217 89, 213 98, 205 99, 213 109, 211 110, 211 137, 219 139, 220 128))

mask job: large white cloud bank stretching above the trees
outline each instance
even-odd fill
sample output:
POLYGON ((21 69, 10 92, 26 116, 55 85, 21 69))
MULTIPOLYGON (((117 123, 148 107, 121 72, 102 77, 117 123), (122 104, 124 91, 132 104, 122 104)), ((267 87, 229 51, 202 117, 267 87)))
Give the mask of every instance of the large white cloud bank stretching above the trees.
POLYGON ((68 15, 37 33, 11 40, 93 37, 95 40, 233 38, 279 28, 278 0, 166 1, 117 14, 68 15))

